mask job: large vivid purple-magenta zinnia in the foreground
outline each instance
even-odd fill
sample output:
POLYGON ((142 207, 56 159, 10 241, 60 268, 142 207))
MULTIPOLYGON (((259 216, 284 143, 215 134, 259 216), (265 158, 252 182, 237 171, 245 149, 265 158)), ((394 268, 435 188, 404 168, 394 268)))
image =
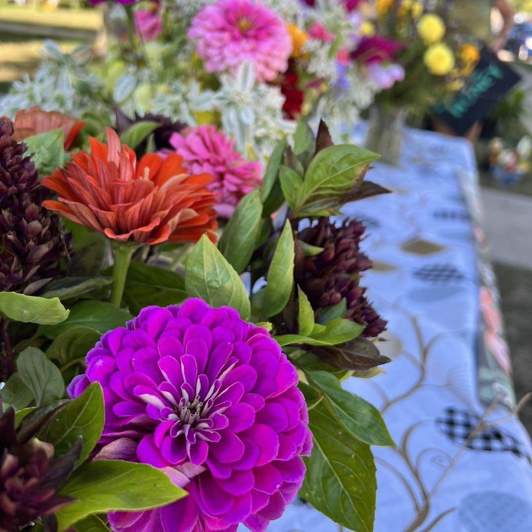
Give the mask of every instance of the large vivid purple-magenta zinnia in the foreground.
MULTIPOLYGON (((69 386, 101 383, 100 451, 164 469, 189 495, 113 512, 113 530, 262 532, 301 487, 312 445, 297 373, 268 332, 199 299, 107 332, 69 386), (185 481, 184 481, 185 480, 185 481)), ((96 457, 98 458, 98 457, 96 457)))

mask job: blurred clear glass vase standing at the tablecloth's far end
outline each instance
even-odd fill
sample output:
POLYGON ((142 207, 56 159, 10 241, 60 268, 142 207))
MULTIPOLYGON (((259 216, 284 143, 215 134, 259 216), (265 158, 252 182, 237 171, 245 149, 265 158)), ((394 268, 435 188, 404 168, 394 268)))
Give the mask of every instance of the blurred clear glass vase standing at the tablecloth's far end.
POLYGON ((396 165, 401 155, 405 112, 400 108, 387 109, 374 105, 370 109, 368 131, 364 147, 380 154, 381 162, 396 165))

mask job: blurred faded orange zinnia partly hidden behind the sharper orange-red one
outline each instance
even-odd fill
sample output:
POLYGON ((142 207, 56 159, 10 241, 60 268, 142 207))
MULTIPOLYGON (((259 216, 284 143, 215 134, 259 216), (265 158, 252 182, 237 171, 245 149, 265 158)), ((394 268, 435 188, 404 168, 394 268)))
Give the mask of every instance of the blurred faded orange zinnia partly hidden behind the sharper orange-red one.
POLYGON ((61 128, 63 130, 65 151, 69 151, 74 142, 76 142, 79 131, 83 126, 85 126, 85 122, 66 117, 57 111, 43 111, 40 107, 34 106, 30 107, 28 111, 22 109, 15 114, 13 139, 20 142, 20 140, 32 135, 39 135, 61 128))

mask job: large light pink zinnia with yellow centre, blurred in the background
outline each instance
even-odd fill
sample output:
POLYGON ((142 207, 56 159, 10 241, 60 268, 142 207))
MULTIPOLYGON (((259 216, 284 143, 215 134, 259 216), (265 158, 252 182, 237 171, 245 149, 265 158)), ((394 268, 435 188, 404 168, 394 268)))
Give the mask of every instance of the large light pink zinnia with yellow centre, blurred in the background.
POLYGON ((292 40, 285 23, 273 11, 251 0, 222 0, 205 6, 188 31, 207 72, 229 69, 248 61, 258 81, 271 81, 288 66, 292 40))

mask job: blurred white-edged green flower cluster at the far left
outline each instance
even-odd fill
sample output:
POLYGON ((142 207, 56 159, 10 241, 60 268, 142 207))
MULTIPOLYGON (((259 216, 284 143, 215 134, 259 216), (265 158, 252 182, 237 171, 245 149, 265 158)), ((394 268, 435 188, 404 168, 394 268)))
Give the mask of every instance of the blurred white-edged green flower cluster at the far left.
POLYGON ((15 81, 6 96, 0 99, 0 114, 13 118, 19 109, 38 105, 45 111, 60 111, 79 117, 84 109, 95 105, 93 94, 102 90, 101 80, 89 72, 90 51, 78 46, 63 53, 54 41, 44 44, 44 57, 33 79, 26 74, 15 81))

